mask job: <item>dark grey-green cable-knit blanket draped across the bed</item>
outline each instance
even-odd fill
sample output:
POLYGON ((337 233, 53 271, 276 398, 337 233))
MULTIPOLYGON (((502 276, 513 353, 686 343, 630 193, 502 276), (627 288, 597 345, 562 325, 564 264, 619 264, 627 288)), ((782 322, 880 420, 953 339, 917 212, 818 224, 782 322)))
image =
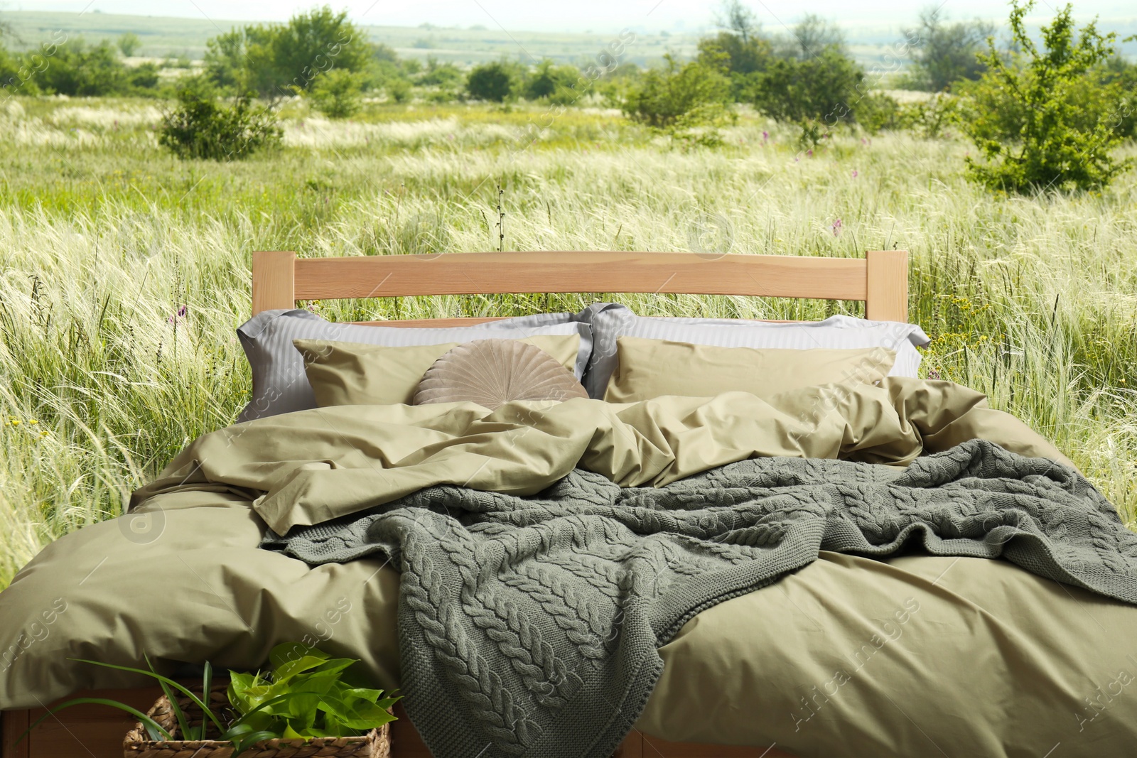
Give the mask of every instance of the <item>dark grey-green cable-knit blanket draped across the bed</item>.
MULTIPOLYGON (((433 755, 607 758, 700 610, 819 550, 1002 557, 1137 603, 1137 534, 1081 475, 973 440, 907 468, 756 458, 662 488, 432 486, 262 547, 402 572, 406 708, 433 755)), ((695 718, 695 714, 675 714, 695 718)))

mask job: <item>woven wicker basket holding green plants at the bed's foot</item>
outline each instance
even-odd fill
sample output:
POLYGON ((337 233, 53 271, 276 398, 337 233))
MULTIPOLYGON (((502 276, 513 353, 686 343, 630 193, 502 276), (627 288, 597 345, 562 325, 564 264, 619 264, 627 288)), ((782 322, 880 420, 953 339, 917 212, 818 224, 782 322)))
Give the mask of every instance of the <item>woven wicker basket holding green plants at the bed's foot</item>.
MULTIPOLYGON (((190 700, 180 699, 180 705, 186 714, 197 708, 189 708, 190 700)), ((209 693, 209 705, 229 707, 225 688, 218 686, 209 693)), ((215 711, 216 713, 216 711, 215 711)), ((177 718, 169 707, 165 695, 158 698, 147 716, 158 722, 172 736, 177 736, 177 718)), ((200 724, 197 715, 191 716, 191 726, 200 724)), ((126 734, 123 740, 125 758, 230 758, 233 755, 233 743, 217 740, 171 740, 155 741, 147 735, 141 723, 126 734)), ((241 758, 390 758, 391 730, 383 724, 360 736, 324 736, 310 740, 267 740, 241 753, 241 758)))

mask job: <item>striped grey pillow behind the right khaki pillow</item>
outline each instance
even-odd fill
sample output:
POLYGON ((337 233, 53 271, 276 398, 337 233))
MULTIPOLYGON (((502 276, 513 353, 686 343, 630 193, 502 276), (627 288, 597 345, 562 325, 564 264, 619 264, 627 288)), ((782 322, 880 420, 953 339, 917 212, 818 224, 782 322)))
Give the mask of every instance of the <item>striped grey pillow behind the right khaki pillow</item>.
POLYGON ((616 369, 616 339, 638 336, 720 348, 824 348, 852 350, 885 348, 896 352, 889 376, 919 376, 920 353, 931 340, 915 324, 870 322, 830 316, 823 322, 771 324, 731 318, 664 318, 637 316, 616 302, 595 302, 573 318, 592 328, 592 356, 581 383, 590 398, 603 399, 616 369))

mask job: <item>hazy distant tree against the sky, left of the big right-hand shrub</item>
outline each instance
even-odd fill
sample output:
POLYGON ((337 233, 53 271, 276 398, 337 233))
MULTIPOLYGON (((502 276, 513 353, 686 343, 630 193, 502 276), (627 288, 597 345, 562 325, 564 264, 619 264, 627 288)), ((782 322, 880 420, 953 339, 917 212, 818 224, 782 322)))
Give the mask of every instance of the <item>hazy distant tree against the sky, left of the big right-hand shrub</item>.
POLYGON ((920 11, 920 25, 905 30, 908 56, 918 73, 918 84, 931 92, 943 92, 961 80, 978 80, 986 65, 979 53, 995 27, 981 20, 947 24, 940 7, 920 11))

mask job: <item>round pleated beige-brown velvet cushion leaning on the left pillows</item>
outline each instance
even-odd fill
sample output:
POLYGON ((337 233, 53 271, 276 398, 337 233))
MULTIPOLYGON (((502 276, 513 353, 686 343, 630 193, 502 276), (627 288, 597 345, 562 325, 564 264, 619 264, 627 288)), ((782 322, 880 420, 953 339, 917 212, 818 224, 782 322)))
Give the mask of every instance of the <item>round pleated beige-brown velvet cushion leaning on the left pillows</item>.
POLYGON ((414 402, 468 401, 493 410, 511 400, 587 397, 572 372, 540 348, 517 340, 474 340, 426 369, 414 402))

